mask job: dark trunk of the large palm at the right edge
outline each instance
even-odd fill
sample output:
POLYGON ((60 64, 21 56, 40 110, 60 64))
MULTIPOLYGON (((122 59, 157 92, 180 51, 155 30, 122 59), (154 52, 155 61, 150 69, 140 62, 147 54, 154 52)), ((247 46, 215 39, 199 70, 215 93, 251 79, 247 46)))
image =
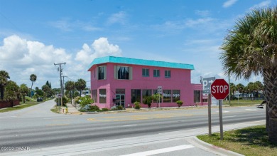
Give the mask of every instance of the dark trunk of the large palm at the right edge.
POLYGON ((268 109, 268 140, 277 143, 277 68, 265 68, 264 76, 264 94, 268 109))

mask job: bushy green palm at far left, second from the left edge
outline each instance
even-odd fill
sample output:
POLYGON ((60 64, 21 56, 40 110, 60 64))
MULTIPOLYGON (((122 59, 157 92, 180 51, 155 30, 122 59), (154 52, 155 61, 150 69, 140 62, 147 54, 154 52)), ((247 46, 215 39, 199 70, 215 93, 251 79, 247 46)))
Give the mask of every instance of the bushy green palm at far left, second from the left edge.
POLYGON ((15 82, 9 80, 6 84, 6 94, 4 96, 5 100, 9 100, 11 103, 11 107, 13 107, 13 101, 18 100, 18 96, 20 95, 20 88, 16 85, 15 82))

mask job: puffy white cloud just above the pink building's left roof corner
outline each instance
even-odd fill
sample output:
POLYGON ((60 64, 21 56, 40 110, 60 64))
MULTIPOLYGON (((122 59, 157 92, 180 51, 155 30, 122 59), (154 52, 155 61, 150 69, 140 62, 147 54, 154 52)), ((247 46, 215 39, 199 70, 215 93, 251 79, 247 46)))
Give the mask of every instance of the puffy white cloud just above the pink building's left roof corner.
POLYGON ((91 63, 94 58, 104 57, 104 56, 121 56, 121 49, 117 45, 110 44, 107 38, 98 38, 95 40, 91 46, 85 43, 82 46, 75 60, 82 61, 86 66, 91 63))

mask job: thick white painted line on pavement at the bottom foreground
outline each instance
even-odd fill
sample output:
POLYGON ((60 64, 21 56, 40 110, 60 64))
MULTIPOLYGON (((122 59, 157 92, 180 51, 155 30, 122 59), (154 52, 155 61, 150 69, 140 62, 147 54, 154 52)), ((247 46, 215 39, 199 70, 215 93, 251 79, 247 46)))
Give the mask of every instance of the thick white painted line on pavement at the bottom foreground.
POLYGON ((158 149, 158 150, 148 150, 146 152, 136 152, 136 153, 132 153, 129 155, 121 155, 121 156, 157 155, 157 154, 161 154, 161 153, 165 153, 165 152, 173 152, 176 150, 185 150, 185 149, 192 148, 192 147, 194 147, 194 146, 193 145, 180 145, 180 146, 175 146, 175 147, 162 148, 162 149, 158 149))

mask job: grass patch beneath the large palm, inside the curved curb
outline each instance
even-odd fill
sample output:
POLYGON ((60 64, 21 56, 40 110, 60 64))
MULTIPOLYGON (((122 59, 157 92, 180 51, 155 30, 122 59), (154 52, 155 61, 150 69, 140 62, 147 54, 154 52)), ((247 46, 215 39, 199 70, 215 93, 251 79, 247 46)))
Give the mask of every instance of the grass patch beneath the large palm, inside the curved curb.
POLYGON ((273 156, 277 155, 277 144, 268 141, 265 125, 259 125, 240 130, 224 132, 224 139, 220 140, 220 133, 197 136, 198 139, 231 150, 241 155, 273 156))

